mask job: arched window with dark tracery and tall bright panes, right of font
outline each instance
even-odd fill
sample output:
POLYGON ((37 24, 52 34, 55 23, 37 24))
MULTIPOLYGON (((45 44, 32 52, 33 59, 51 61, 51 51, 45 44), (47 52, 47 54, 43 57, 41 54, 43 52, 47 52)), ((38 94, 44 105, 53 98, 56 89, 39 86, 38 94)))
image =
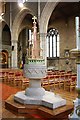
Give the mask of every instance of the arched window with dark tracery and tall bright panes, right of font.
POLYGON ((59 52, 59 33, 52 28, 47 33, 47 57, 59 57, 59 52))

